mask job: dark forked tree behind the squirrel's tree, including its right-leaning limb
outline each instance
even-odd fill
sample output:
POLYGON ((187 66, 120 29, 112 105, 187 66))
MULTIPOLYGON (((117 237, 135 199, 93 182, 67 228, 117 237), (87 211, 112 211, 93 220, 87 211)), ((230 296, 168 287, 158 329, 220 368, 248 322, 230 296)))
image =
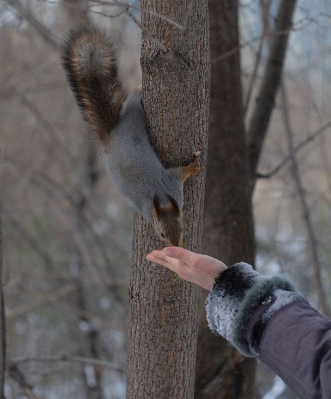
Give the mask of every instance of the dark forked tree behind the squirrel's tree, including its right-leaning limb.
MULTIPOLYGON (((261 54, 256 57, 245 110, 240 78, 238 3, 233 0, 209 1, 212 90, 204 252, 223 259, 228 265, 245 259, 254 266, 251 193, 281 82, 295 3, 295 0, 282 0, 275 27, 271 30, 268 24, 263 28, 258 52, 262 52, 263 40, 268 34, 270 51, 246 128, 244 115, 251 105, 254 73, 259 67, 261 54), (228 56, 224 57, 224 54, 228 56)), ((270 2, 261 1, 260 5, 262 15, 267 14, 269 18, 270 2)), ((201 301, 202 307, 203 303, 201 301)), ((226 340, 215 337, 208 328, 204 310, 199 327, 195 398, 255 398, 256 360, 245 358, 235 348, 228 348, 226 340), (206 359, 208 367, 204 367, 206 359)))

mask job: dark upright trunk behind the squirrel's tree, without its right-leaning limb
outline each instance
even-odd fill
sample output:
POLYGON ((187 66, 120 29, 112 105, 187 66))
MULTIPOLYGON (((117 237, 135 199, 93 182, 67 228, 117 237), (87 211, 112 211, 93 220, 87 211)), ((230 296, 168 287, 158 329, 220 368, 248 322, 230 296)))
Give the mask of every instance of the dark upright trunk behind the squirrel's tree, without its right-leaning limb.
MULTIPOLYGON (((234 0, 209 1, 212 85, 203 251, 229 266, 253 264, 255 255, 239 51, 216 61, 239 44, 237 9, 234 0)), ((203 312, 195 398, 253 398, 255 368, 255 359, 211 333, 203 312)))

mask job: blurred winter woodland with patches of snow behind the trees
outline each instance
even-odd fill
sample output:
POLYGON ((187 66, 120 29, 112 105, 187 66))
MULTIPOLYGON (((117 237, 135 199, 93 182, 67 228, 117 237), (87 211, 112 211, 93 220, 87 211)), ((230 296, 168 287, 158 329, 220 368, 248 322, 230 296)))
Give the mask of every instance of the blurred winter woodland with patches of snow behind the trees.
MULTIPOLYGON (((125 398, 133 211, 113 189, 89 140, 56 44, 72 25, 97 23, 119 50, 125 87, 135 88, 141 82, 141 29, 132 20, 140 19, 139 2, 133 4, 130 17, 123 7, 102 1, 0 2, 7 399, 125 398)), ((278 0, 239 5, 247 123, 269 53, 264 26, 266 20, 273 26, 278 7, 278 0)), ((299 0, 283 74, 287 102, 279 91, 253 197, 257 270, 287 273, 318 307, 313 246, 320 295, 329 308, 330 61, 331 2, 299 0), (295 171, 284 112, 294 146, 302 143, 295 171)), ((259 365, 257 398, 296 396, 259 365)))

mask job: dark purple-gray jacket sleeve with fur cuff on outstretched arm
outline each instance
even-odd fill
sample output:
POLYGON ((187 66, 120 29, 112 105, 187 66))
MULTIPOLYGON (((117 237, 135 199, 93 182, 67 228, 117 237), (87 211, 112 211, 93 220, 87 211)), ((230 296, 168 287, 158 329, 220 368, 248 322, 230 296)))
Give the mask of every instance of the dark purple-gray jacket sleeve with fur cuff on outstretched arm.
POLYGON ((331 319, 286 279, 237 263, 216 278, 206 310, 214 334, 258 356, 301 399, 331 399, 331 319))

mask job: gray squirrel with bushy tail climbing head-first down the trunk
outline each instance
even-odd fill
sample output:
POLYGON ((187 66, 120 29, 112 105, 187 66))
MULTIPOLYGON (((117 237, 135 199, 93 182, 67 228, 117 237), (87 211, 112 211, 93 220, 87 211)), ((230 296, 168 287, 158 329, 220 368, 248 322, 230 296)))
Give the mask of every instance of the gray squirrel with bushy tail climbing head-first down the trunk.
POLYGON ((162 241, 178 246, 183 183, 200 171, 199 152, 188 166, 164 168, 149 143, 141 90, 127 94, 123 89, 114 45, 98 28, 71 29, 62 63, 114 186, 162 241))

